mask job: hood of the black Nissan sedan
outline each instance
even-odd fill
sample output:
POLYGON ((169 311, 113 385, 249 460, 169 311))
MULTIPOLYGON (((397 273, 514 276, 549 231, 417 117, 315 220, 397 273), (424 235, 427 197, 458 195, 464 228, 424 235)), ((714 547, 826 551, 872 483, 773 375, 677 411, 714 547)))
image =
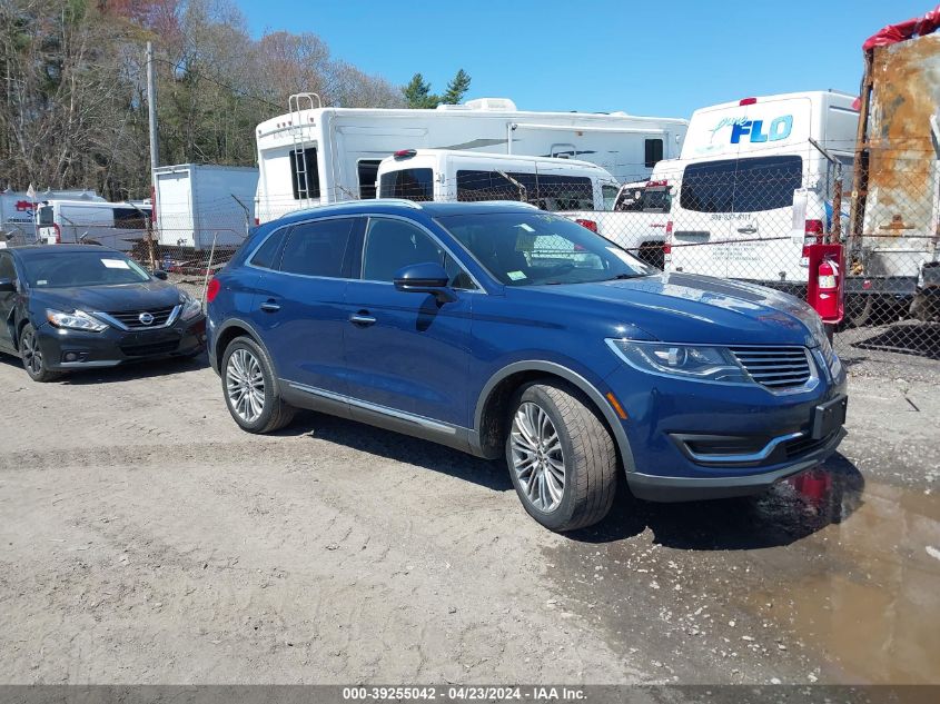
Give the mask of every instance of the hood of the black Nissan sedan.
POLYGON ((168 308, 179 303, 179 289, 160 280, 116 286, 81 286, 75 288, 32 288, 33 306, 71 311, 121 313, 168 308))

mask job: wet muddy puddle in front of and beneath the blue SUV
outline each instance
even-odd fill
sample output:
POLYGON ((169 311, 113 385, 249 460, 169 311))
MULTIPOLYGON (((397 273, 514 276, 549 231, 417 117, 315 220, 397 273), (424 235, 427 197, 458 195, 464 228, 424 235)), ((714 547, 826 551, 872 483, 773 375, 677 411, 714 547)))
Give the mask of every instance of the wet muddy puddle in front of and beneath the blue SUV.
POLYGON ((940 683, 940 500, 922 488, 837 457, 758 498, 623 493, 571 537, 545 549, 553 606, 655 681, 940 683))

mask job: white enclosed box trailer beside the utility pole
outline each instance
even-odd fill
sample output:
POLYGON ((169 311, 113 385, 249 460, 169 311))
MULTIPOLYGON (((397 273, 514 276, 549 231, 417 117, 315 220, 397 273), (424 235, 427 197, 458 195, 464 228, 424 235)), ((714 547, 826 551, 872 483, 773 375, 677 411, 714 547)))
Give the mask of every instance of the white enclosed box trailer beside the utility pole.
POLYGON ((202 163, 154 171, 154 215, 164 247, 210 249, 240 245, 254 219, 258 169, 202 163))

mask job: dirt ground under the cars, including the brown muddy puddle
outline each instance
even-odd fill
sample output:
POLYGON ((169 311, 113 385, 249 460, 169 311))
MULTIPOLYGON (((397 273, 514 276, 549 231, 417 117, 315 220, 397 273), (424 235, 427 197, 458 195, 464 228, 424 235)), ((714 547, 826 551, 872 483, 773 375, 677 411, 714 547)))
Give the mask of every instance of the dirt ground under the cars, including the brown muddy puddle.
POLYGON ((867 365, 823 470, 560 536, 499 464, 241 433, 205 361, 0 360, 2 683, 940 683, 940 375, 867 365))

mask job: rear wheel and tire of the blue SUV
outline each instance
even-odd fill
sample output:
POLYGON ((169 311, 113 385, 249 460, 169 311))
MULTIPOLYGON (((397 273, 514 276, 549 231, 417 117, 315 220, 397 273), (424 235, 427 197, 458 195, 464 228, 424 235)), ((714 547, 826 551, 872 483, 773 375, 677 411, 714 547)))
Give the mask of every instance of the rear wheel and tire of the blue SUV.
POLYGON ((228 412, 243 430, 273 433, 294 419, 295 409, 280 397, 267 353, 251 338, 229 343, 220 376, 228 412))

